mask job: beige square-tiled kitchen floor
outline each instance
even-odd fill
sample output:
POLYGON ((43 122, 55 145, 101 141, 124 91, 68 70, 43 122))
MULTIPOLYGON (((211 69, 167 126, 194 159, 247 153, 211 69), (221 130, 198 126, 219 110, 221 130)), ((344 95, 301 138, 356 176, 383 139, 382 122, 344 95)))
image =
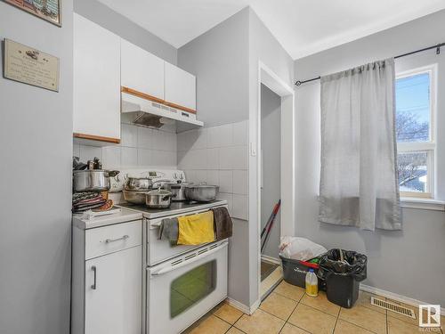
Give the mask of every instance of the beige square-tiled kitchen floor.
MULTIPOLYGON (((360 291, 357 303, 351 309, 346 309, 330 303, 324 292, 320 292, 319 297, 309 297, 304 294, 304 289, 282 281, 254 314, 243 314, 223 302, 186 332, 190 334, 419 334, 423 332, 417 326, 417 307, 407 305, 416 312, 417 319, 410 319, 370 305, 371 296, 373 295, 360 291)), ((433 332, 445 334, 443 331, 445 316, 441 317, 441 324, 442 331, 433 332)))

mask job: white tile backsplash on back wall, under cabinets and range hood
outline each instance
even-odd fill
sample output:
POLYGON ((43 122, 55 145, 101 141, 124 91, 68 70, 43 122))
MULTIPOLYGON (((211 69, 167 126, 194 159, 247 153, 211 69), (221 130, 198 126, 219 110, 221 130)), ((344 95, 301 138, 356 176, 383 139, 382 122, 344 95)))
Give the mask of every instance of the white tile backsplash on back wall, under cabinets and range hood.
POLYGON ((122 123, 121 143, 105 147, 73 144, 73 156, 86 162, 101 159, 104 168, 177 167, 176 134, 174 129, 152 129, 122 123))

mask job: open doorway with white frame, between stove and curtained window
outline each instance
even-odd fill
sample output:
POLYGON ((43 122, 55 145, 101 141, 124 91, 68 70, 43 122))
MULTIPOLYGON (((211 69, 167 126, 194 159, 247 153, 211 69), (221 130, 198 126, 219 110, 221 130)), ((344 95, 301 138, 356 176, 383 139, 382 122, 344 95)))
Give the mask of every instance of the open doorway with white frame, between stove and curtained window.
POLYGON ((259 62, 257 187, 258 302, 282 280, 279 238, 295 231, 295 113, 294 90, 259 62), (272 209, 281 201, 269 239, 261 251, 261 232, 272 209), (263 263, 263 280, 262 280, 263 263), (264 278, 265 272, 269 272, 264 278))

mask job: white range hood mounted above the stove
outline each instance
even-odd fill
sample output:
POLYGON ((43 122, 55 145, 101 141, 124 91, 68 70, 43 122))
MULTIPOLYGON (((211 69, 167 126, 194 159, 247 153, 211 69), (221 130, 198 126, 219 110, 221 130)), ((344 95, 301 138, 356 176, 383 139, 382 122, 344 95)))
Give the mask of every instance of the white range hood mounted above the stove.
POLYGON ((134 94, 121 92, 121 112, 125 118, 139 126, 161 127, 176 123, 182 129, 203 126, 196 114, 153 102, 134 94))

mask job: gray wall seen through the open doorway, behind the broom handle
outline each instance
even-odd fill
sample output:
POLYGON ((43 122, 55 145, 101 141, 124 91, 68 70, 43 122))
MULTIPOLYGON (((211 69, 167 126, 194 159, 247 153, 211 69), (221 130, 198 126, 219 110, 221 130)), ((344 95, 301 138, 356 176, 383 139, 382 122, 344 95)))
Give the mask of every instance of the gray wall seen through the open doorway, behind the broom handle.
MULTIPOLYGON (((263 154, 263 187, 261 190, 261 229, 279 201, 281 171, 281 98, 261 86, 261 147, 263 154)), ((275 218, 263 255, 279 259, 280 215, 275 218)))

